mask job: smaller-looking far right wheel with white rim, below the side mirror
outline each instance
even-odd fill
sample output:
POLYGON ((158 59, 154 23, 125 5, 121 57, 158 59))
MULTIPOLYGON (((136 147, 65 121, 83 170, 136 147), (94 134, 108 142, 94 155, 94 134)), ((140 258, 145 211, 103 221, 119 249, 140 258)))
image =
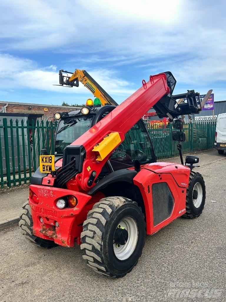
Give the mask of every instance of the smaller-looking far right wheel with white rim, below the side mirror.
POLYGON ((183 217, 196 218, 202 214, 206 201, 206 187, 203 177, 191 171, 186 193, 186 213, 183 217))

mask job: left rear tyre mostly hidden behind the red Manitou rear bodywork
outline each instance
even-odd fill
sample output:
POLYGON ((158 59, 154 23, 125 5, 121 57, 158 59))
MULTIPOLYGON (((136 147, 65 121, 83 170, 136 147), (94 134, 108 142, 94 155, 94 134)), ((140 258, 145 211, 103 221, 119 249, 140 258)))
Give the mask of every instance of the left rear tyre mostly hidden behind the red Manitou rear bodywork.
POLYGON ((32 244, 42 247, 44 249, 50 249, 54 246, 57 246, 54 241, 42 239, 33 234, 33 220, 31 217, 31 208, 28 201, 23 204, 22 211, 20 214, 19 226, 21 228, 21 233, 32 244))

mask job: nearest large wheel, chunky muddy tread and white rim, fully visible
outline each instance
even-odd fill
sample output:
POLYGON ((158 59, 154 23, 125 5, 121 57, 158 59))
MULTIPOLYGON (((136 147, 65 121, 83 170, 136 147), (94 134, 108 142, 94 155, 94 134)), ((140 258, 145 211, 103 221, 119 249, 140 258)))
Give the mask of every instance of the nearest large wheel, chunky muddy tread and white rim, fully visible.
POLYGON ((118 196, 103 198, 83 223, 83 259, 99 274, 123 277, 137 264, 145 235, 144 215, 136 202, 118 196))

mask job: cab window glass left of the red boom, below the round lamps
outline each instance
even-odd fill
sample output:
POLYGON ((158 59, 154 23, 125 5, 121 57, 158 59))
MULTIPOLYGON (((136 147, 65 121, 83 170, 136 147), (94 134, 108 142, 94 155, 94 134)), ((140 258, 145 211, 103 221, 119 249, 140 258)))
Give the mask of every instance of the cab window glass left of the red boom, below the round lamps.
POLYGON ((60 120, 56 133, 55 154, 63 154, 65 147, 77 140, 91 127, 92 119, 93 115, 60 120))

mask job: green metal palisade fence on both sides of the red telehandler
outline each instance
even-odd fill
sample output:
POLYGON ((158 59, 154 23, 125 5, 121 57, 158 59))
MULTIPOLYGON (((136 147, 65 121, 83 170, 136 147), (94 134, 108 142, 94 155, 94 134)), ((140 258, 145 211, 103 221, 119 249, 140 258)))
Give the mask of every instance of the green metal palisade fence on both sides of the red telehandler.
MULTIPOLYGON (((21 185, 30 181, 32 173, 38 168, 41 149, 54 154, 56 123, 43 121, 29 125, 22 120, 13 123, 3 118, 0 124, 0 187, 21 185), (33 150, 30 141, 33 137, 33 150)), ((172 125, 146 124, 158 159, 178 155, 177 143, 172 142, 172 125)), ((185 124, 183 131, 186 141, 182 152, 189 153, 214 147, 215 123, 185 124)))

